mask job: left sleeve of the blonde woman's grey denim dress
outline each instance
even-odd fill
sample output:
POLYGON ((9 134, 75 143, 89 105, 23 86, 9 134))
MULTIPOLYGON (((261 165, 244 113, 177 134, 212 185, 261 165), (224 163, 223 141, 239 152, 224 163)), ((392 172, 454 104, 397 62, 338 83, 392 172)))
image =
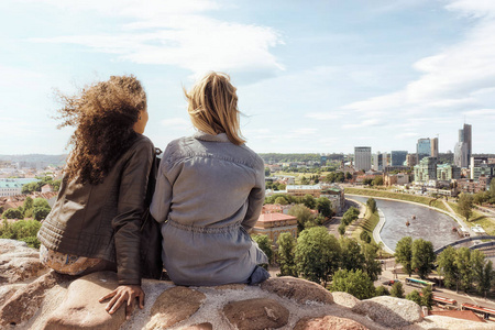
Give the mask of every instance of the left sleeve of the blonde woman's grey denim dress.
POLYGON ((158 176, 156 177, 155 194, 153 194, 153 200, 150 206, 151 215, 156 221, 161 223, 167 220, 172 205, 172 184, 166 176, 166 151, 163 158, 164 160, 160 164, 158 176))

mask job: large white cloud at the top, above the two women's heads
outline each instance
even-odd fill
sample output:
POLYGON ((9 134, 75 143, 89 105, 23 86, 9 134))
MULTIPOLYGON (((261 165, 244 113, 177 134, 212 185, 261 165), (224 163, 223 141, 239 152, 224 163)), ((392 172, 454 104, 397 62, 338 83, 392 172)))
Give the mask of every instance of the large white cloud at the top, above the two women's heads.
POLYGON ((207 70, 270 75, 284 69, 271 53, 283 44, 270 26, 219 21, 207 15, 220 6, 213 1, 85 1, 45 0, 63 9, 130 18, 121 32, 32 38, 38 43, 69 43, 116 54, 120 61, 174 65, 196 76, 207 70))

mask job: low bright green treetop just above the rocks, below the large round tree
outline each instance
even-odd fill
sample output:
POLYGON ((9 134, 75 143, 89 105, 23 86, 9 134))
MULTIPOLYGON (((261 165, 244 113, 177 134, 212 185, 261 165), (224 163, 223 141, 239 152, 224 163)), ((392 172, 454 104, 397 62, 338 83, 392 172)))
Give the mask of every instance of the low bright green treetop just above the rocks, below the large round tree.
POLYGON ((340 270, 333 274, 332 292, 348 293, 358 299, 367 299, 375 296, 373 280, 361 270, 340 270))

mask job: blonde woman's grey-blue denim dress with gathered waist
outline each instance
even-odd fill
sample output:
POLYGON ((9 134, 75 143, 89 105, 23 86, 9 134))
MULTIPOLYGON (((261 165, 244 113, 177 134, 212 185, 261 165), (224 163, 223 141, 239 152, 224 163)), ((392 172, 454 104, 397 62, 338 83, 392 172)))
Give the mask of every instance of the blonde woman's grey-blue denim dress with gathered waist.
POLYGON ((177 285, 246 283, 266 255, 250 238, 264 201, 264 165, 227 134, 198 132, 165 150, 151 205, 164 267, 177 285))

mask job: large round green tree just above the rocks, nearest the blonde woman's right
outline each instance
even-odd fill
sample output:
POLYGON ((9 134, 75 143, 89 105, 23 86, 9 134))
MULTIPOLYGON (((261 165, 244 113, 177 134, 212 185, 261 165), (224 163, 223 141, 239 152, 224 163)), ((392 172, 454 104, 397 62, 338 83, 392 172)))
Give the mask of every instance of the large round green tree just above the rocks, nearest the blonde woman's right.
POLYGON ((326 286, 339 264, 339 242, 328 233, 327 228, 314 227, 300 233, 296 245, 296 265, 302 277, 326 286))

